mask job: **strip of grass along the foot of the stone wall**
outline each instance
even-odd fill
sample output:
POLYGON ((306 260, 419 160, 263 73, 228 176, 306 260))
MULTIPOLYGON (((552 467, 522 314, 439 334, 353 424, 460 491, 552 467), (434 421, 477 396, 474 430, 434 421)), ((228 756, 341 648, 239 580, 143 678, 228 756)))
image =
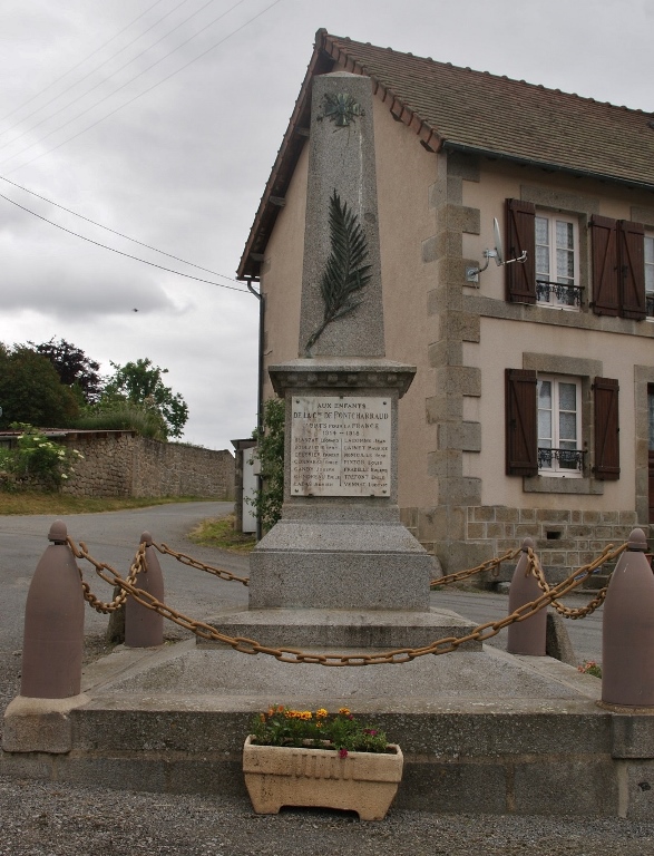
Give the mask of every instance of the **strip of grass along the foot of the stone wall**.
POLYGON ((170 503, 215 502, 202 496, 68 496, 67 494, 41 494, 25 492, 6 494, 0 492, 0 514, 98 514, 120 512, 124 508, 148 508, 170 503))

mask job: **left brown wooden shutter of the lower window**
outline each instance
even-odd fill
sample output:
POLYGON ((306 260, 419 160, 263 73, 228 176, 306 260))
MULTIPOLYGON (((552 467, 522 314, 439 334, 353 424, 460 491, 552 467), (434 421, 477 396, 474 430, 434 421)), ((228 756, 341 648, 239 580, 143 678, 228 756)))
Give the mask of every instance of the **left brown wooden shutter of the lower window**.
POLYGON ((506 471, 508 476, 538 474, 536 372, 505 370, 506 471))

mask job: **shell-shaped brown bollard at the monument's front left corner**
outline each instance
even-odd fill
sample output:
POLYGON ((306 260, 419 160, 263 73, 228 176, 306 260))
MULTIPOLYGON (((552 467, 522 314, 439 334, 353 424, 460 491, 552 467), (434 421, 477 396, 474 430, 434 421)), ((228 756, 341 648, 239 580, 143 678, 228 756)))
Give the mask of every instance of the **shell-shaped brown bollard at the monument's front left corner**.
POLYGON ((61 521, 50 527, 52 544, 27 595, 20 694, 32 699, 68 699, 80 692, 84 592, 67 534, 61 521))

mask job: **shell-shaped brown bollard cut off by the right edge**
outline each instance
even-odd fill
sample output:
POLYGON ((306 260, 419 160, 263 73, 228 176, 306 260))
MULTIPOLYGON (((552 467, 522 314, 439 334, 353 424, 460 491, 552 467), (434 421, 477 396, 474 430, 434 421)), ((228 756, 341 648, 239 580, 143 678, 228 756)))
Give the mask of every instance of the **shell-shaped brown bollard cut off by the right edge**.
POLYGON ((633 529, 608 583, 602 624, 602 701, 654 707, 654 574, 633 529))

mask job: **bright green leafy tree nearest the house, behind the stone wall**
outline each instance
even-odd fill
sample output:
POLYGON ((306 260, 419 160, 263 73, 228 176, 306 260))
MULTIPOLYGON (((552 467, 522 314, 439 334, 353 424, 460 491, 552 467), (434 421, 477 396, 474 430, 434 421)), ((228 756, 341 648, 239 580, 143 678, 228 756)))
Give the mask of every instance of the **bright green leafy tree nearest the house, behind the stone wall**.
POLYGON ((111 362, 114 374, 108 379, 99 407, 110 409, 111 405, 128 401, 146 410, 158 414, 163 420, 164 439, 182 437, 188 420, 188 407, 179 395, 173 392, 162 380, 168 369, 155 366, 152 360, 143 359, 119 366, 111 362))

